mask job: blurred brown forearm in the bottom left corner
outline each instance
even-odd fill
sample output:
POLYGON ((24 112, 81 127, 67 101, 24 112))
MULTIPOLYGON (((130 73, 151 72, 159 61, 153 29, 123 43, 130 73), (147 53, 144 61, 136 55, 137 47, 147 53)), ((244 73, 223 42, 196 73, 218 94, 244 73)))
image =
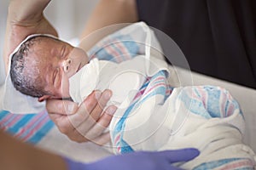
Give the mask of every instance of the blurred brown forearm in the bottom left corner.
POLYGON ((61 156, 56 156, 20 142, 0 129, 0 165, 9 170, 65 170, 67 165, 61 156))

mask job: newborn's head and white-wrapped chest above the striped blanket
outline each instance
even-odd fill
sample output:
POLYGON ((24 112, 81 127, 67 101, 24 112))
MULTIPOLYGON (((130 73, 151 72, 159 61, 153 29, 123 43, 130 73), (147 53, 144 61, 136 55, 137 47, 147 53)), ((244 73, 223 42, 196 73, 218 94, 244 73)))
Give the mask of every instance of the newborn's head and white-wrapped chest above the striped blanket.
POLYGON ((91 59, 55 37, 40 35, 23 42, 11 59, 10 77, 22 94, 45 99, 73 99, 81 103, 93 90, 111 89, 110 104, 127 108, 147 77, 166 70, 166 62, 144 55, 116 64, 91 59), (153 62, 150 69, 147 68, 153 62))

